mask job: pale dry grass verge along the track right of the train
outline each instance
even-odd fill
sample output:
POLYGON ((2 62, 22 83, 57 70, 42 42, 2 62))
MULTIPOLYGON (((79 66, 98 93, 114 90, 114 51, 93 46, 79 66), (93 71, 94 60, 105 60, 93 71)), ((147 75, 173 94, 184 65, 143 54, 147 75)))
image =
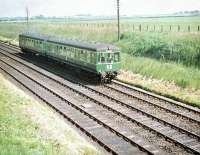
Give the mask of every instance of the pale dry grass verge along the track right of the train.
POLYGON ((118 80, 200 108, 200 90, 181 88, 174 82, 145 77, 131 71, 121 71, 118 80))

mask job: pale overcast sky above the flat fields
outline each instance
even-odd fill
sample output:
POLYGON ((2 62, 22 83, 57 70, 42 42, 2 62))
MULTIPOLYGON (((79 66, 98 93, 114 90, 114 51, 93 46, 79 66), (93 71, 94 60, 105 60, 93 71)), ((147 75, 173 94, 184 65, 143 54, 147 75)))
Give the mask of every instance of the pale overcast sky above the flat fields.
MULTIPOLYGON (((117 0, 0 0, 0 17, 72 16, 76 14, 115 15, 117 0)), ((200 0, 120 0, 121 14, 154 15, 200 10, 200 0)))

